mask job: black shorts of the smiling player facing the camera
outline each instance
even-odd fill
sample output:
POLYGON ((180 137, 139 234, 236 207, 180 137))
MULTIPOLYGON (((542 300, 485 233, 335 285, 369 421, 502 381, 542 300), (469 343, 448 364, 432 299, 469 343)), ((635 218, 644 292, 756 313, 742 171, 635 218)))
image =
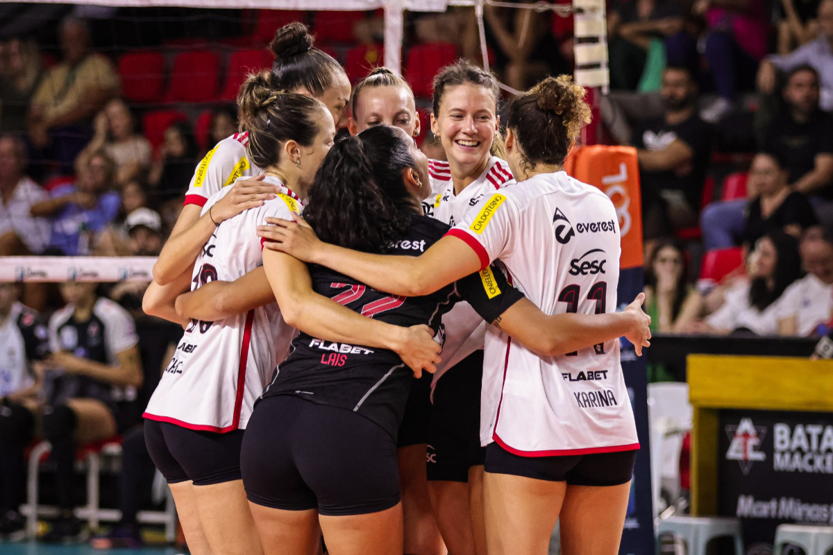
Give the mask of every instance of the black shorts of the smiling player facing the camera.
POLYGON ((486 460, 480 445, 483 351, 442 374, 434 388, 428 429, 427 476, 432 481, 468 482, 468 471, 486 460))

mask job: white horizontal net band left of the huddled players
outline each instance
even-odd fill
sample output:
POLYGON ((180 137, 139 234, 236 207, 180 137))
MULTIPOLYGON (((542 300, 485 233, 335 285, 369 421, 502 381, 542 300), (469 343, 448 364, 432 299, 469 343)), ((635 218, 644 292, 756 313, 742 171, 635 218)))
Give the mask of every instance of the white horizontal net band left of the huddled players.
POLYGON ((152 256, 7 256, 0 257, 0 282, 150 281, 152 256))

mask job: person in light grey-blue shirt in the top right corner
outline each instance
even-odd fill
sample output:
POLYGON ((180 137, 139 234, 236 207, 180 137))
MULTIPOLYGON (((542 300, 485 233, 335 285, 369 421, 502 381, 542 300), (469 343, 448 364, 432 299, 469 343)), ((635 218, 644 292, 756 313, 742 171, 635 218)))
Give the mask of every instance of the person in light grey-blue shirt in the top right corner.
POLYGON ((758 70, 758 88, 771 94, 776 91, 778 72, 792 72, 796 67, 811 66, 821 77, 821 109, 833 111, 833 0, 821 0, 818 17, 819 34, 815 40, 786 56, 767 57, 758 70))

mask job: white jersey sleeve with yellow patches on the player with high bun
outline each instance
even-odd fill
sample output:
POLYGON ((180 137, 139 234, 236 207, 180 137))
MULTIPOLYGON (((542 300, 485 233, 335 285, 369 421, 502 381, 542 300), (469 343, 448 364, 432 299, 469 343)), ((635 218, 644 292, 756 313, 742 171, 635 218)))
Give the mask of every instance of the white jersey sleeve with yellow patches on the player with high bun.
POLYGON ((185 194, 185 204, 205 206, 212 195, 232 185, 238 178, 261 175, 263 171, 248 159, 248 144, 248 132, 235 133, 208 151, 194 171, 185 194))

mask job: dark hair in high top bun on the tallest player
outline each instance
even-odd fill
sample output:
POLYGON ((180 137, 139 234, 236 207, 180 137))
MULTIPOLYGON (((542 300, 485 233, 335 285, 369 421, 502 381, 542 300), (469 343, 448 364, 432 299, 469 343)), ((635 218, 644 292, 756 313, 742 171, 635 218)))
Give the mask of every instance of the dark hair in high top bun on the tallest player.
POLYGON ((303 87, 313 97, 321 97, 332 87, 333 77, 339 73, 347 76, 332 56, 312 44, 309 29, 301 22, 289 23, 275 32, 269 50, 275 54, 272 73, 280 88, 292 92, 303 87))

